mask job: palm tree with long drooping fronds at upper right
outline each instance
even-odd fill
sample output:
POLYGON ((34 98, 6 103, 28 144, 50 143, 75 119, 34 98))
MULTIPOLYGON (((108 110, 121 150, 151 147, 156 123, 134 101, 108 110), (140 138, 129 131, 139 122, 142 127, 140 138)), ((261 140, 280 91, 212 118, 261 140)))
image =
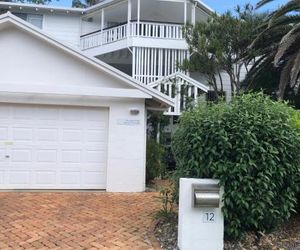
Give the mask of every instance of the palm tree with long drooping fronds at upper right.
MULTIPOLYGON (((261 0, 257 8, 275 0, 261 0)), ((258 60, 250 70, 249 79, 262 74, 270 64, 280 70, 277 91, 283 99, 289 86, 297 93, 300 80, 300 0, 290 0, 268 15, 258 28, 258 36, 251 47, 256 49, 258 60)))

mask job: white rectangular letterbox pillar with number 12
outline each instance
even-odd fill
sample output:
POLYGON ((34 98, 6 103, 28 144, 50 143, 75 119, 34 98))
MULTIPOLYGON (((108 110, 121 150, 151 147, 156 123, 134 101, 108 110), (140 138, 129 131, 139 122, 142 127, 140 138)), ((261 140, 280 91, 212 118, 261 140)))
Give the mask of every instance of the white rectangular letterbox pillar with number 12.
POLYGON ((180 179, 178 247, 180 250, 222 250, 223 189, 213 179, 180 179))

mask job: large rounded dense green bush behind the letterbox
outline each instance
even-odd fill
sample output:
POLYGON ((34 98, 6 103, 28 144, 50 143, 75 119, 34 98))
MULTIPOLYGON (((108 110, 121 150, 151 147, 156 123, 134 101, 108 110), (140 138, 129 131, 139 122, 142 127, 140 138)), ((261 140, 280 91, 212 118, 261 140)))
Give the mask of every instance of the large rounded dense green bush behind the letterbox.
POLYGON ((182 115, 172 144, 176 176, 220 179, 227 238, 272 230, 295 209, 300 138, 292 114, 259 93, 182 115))

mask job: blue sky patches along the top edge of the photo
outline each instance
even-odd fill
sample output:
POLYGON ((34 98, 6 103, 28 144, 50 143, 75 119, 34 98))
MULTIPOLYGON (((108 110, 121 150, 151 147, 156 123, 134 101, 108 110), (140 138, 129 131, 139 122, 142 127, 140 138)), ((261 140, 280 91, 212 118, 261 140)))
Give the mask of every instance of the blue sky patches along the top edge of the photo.
MULTIPOLYGON (((151 1, 151 0, 149 0, 151 1)), ((264 9, 274 9, 280 4, 286 3, 288 0, 275 0, 273 3, 267 4, 264 9)), ((245 5, 251 3, 255 5, 258 0, 202 0, 205 4, 216 10, 218 13, 223 13, 226 10, 233 10, 237 5, 245 5)), ((51 5, 71 7, 72 0, 52 0, 51 5)))

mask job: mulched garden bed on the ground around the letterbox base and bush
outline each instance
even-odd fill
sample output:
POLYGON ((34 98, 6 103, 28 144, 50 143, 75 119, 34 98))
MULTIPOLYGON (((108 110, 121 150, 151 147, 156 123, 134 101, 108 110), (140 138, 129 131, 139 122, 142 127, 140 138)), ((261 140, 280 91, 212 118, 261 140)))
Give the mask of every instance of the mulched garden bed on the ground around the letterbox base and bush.
MULTIPOLYGON (((163 250, 177 250, 177 217, 160 218, 155 236, 163 250)), ((300 250, 300 215, 270 234, 248 234, 242 242, 225 242, 224 250, 300 250)))

